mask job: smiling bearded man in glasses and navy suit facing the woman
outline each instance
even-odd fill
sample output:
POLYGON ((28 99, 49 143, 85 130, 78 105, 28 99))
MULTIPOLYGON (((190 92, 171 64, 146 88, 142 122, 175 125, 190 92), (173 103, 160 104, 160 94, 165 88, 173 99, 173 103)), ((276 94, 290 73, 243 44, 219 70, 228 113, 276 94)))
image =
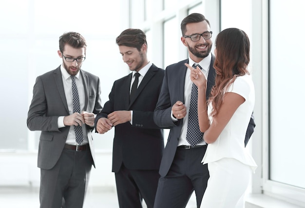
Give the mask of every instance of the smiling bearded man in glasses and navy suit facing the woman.
MULTIPOLYGON (((154 121, 158 126, 171 128, 161 160, 159 171, 161 177, 154 208, 185 208, 193 191, 199 208, 209 179, 208 166, 201 163, 207 149, 202 139, 203 135, 198 139, 199 143, 195 145, 190 143, 190 139, 194 137, 194 129, 189 132, 188 130, 191 129, 189 125, 192 123, 199 130, 199 124, 197 105, 196 113, 189 117, 192 82, 190 69, 184 64, 200 65, 203 73, 208 77, 207 96, 209 96, 215 78, 213 68, 215 57, 210 52, 212 48, 210 22, 203 15, 193 13, 182 20, 181 32, 181 41, 188 48, 189 58, 166 68, 154 112, 154 121), (195 119, 197 120, 194 121, 195 119), (188 139, 189 135, 190 139, 188 139)), ((245 144, 253 133, 254 126, 251 118, 245 144)))

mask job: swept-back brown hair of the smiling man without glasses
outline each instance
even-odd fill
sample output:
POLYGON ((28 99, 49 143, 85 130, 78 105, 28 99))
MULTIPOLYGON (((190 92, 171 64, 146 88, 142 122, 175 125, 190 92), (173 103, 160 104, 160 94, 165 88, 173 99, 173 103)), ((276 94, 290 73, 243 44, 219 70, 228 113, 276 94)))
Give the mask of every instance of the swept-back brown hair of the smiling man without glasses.
POLYGON ((127 29, 124 30, 119 36, 116 37, 115 42, 118 46, 128 46, 136 48, 141 51, 141 47, 146 41, 146 35, 140 29, 127 29))

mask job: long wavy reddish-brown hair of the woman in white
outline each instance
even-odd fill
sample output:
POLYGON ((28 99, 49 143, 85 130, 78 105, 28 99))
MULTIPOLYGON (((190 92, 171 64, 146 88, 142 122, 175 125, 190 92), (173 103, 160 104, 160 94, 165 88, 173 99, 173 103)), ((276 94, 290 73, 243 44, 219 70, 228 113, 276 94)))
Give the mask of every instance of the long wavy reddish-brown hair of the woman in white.
POLYGON ((209 103, 212 104, 211 116, 216 116, 224 95, 236 77, 249 74, 250 42, 248 35, 237 28, 228 28, 220 32, 215 40, 216 71, 215 85, 211 89, 209 103))

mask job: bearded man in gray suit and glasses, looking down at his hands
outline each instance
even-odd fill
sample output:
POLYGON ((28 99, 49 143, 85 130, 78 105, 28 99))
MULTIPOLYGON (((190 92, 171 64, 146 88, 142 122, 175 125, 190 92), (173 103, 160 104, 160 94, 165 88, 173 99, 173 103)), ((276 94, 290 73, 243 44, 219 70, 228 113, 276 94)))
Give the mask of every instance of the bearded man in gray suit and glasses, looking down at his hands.
POLYGON ((27 126, 41 131, 40 208, 82 208, 95 165, 91 132, 102 106, 99 78, 80 69, 86 46, 78 33, 61 35, 62 64, 38 76, 34 85, 27 126))

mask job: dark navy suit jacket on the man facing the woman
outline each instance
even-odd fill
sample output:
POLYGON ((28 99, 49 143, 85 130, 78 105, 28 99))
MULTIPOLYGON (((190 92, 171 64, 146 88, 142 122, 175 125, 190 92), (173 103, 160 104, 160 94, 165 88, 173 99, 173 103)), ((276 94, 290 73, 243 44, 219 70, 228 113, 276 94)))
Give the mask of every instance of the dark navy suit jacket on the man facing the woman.
MULTIPOLYGON (((210 70, 208 75, 207 84, 207 99, 210 96, 211 88, 215 82, 215 69, 213 64, 215 61, 215 56, 212 55, 210 70)), ((170 128, 169 138, 164 149, 159 173, 161 176, 166 176, 170 167, 172 165, 173 158, 176 153, 178 140, 180 137, 180 131, 182 128, 183 119, 178 121, 172 121, 171 112, 172 105, 177 101, 184 101, 184 84, 185 76, 187 72, 187 67, 184 65, 189 63, 189 59, 180 61, 178 63, 172 64, 165 69, 165 76, 159 96, 159 100, 154 111, 154 121, 161 128, 170 128)), ((245 142, 248 142, 250 136, 254 131, 254 121, 251 117, 251 121, 248 126, 247 135, 245 142)))

